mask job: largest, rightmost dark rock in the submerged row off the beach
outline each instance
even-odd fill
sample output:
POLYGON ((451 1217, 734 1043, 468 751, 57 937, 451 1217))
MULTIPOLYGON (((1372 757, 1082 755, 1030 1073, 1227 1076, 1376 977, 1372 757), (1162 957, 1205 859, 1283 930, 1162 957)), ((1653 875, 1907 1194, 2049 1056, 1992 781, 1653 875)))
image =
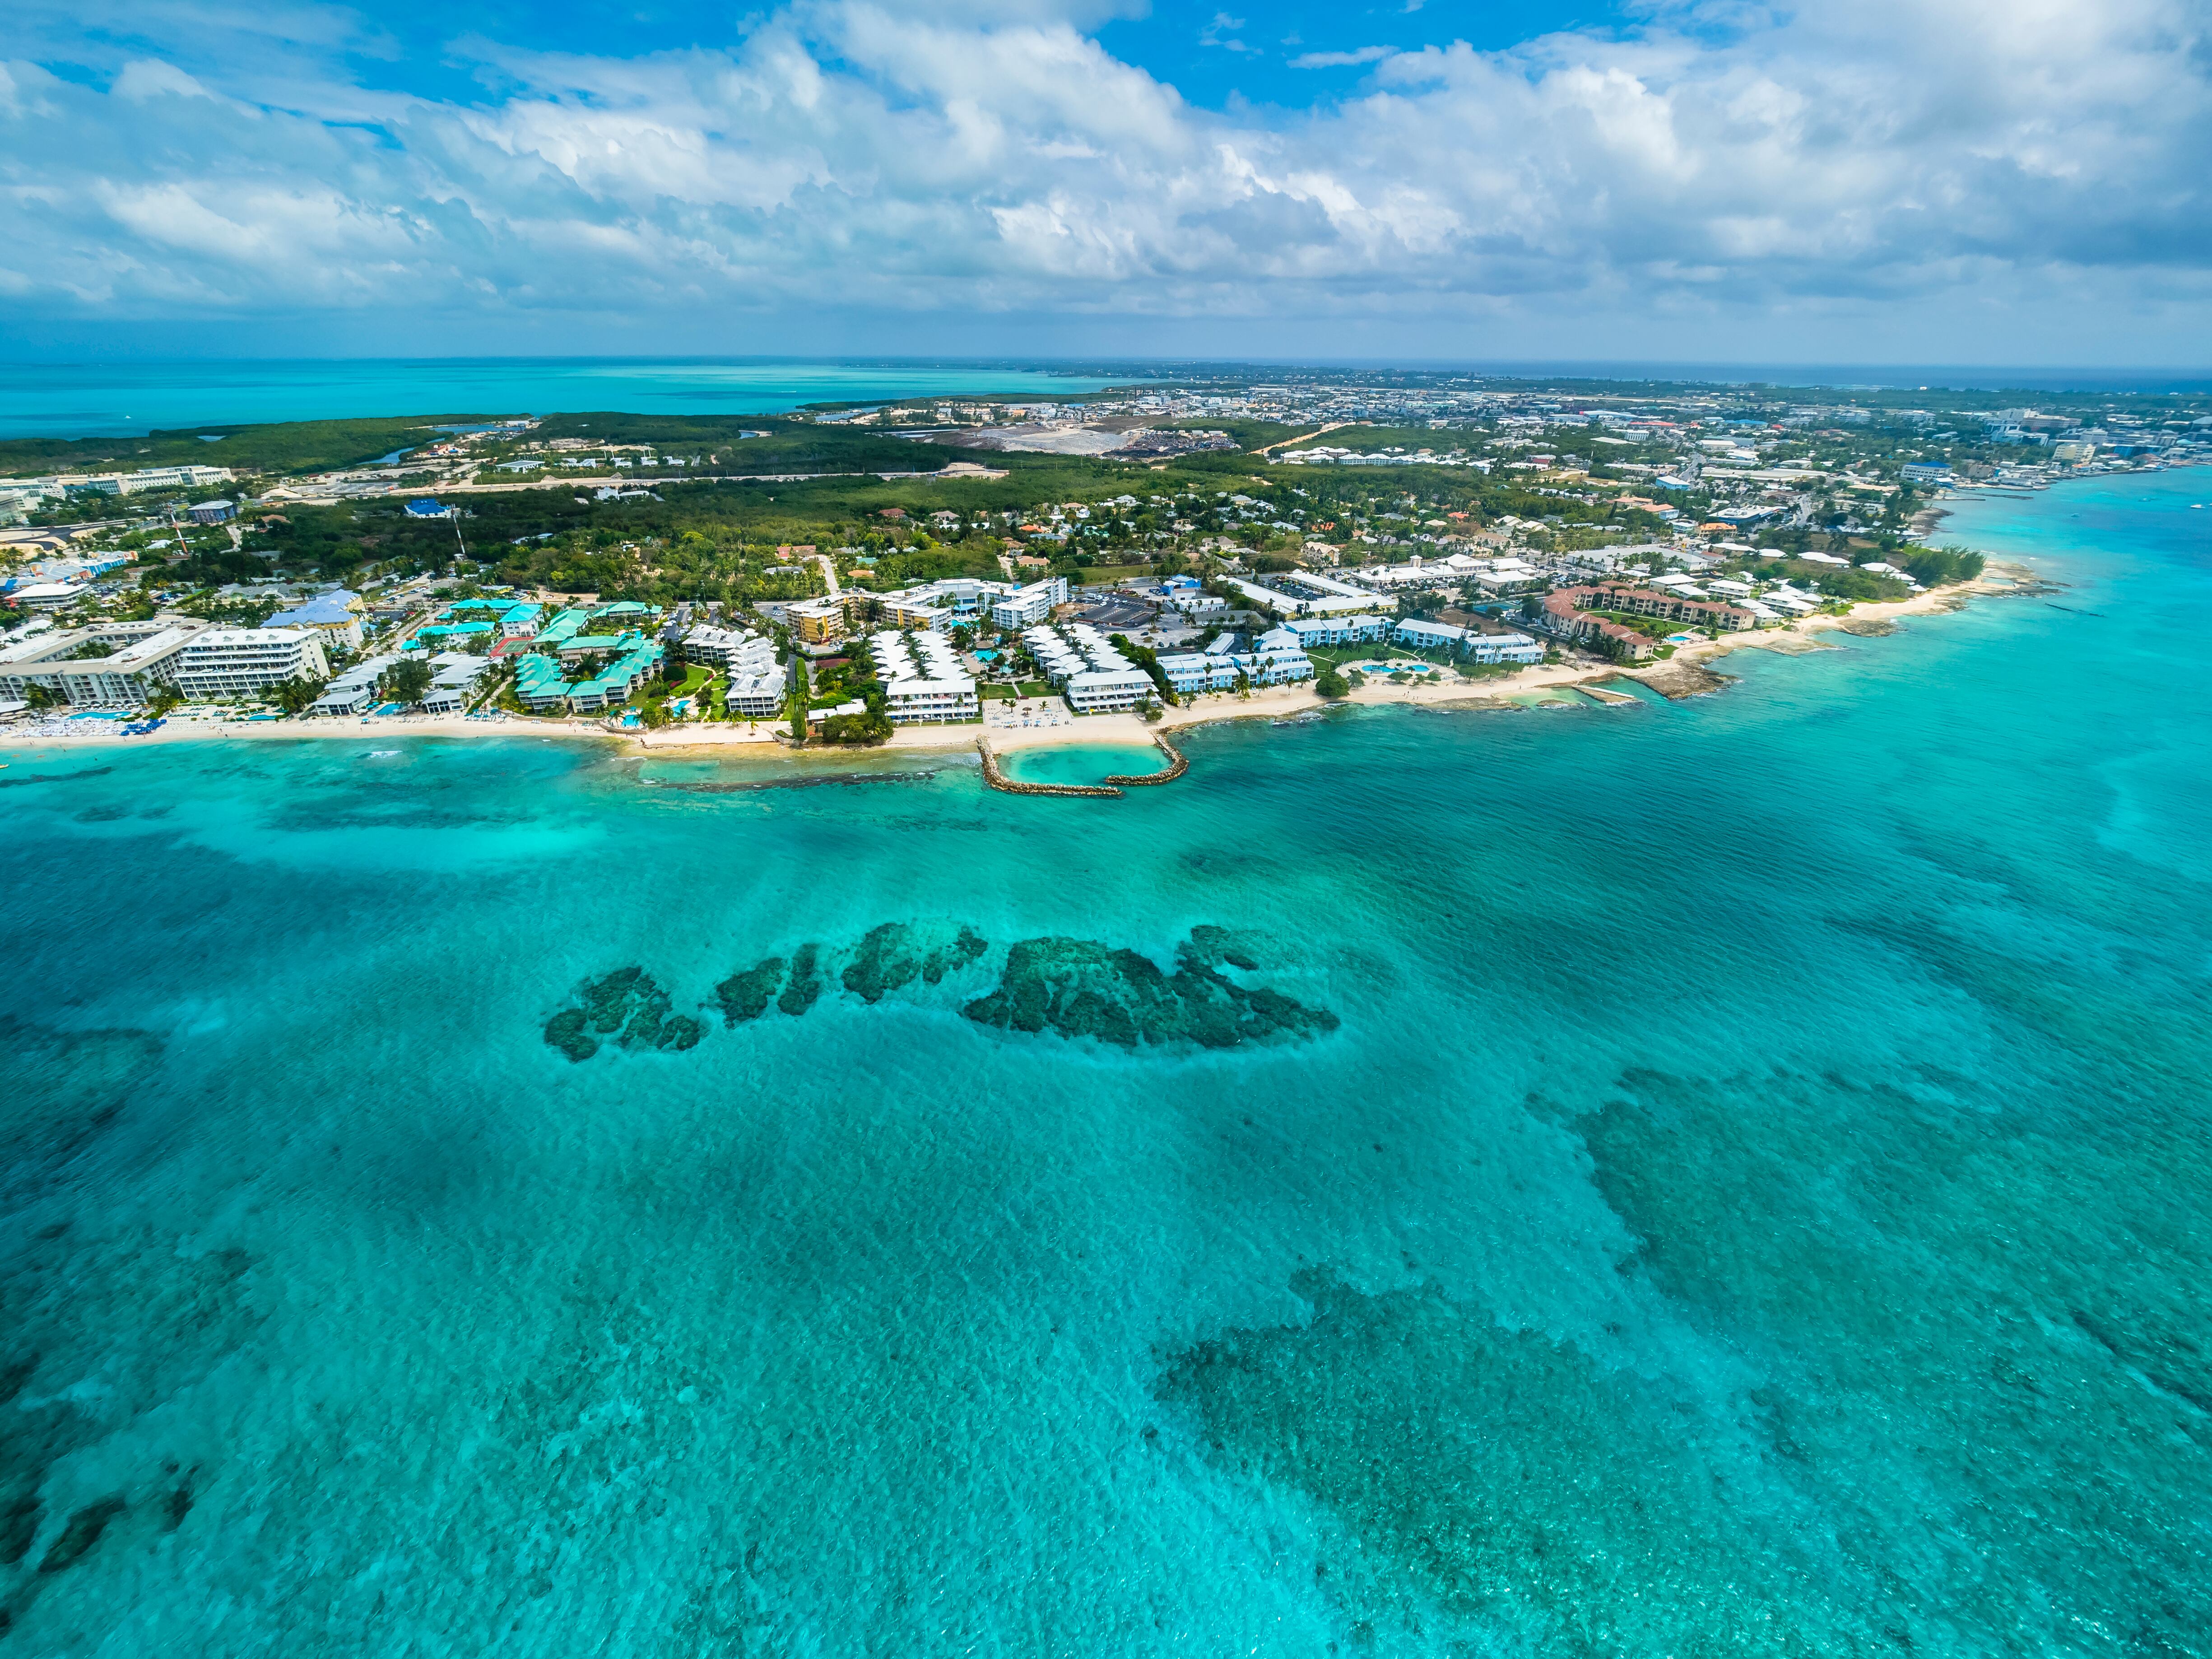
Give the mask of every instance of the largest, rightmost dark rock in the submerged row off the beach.
POLYGON ((1237 1048, 1336 1029, 1327 1009, 1307 1009, 1281 991, 1241 987, 1206 958, 1203 945, 1183 945, 1175 973, 1166 973, 1139 951, 1079 938, 1031 938, 1006 951, 998 991, 969 1002, 962 1013, 1000 1031, 1057 1031, 1121 1048, 1177 1042, 1237 1048))

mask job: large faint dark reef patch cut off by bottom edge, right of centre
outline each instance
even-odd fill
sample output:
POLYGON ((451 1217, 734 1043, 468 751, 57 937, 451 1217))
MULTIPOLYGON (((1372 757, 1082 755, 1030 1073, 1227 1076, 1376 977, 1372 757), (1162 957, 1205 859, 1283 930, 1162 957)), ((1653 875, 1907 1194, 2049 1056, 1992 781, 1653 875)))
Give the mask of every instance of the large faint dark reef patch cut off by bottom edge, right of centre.
POLYGON ((1436 1287, 1292 1290, 1310 1323, 1194 1343, 1155 1398, 1210 1462, 1343 1524, 1354 1559, 1316 1577, 1378 1579, 1349 1617, 1440 1621, 1442 1652, 1721 1652, 1745 1626, 1794 1637, 1767 1652, 1900 1652, 1666 1385, 1436 1287))

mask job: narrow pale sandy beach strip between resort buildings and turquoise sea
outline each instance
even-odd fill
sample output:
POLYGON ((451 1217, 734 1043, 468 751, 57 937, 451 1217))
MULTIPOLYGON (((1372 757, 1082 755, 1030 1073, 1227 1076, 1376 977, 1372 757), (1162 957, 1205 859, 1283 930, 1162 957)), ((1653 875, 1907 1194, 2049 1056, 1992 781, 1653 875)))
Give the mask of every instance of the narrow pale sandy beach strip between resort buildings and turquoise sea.
MULTIPOLYGON (((168 726, 157 732, 146 732, 144 737, 122 737, 115 730, 91 730, 91 732, 0 732, 0 754, 15 757, 29 750, 117 750, 117 748, 146 748, 155 743, 199 743, 215 739, 234 741, 332 741, 332 739, 354 739, 354 741, 387 741, 387 739, 422 739, 422 737, 447 737, 447 739, 509 739, 526 741, 538 739, 544 743, 608 743, 617 750, 633 754, 657 754, 668 759, 706 759, 706 757, 728 757, 728 759, 781 759, 794 763, 807 763, 814 759, 830 759, 838 763, 852 763, 856 757, 865 754, 958 754, 962 750, 973 752, 978 737, 987 737, 991 748, 998 752, 1006 750, 1029 750, 1029 748, 1152 748, 1152 737, 1164 732, 1183 732, 1197 726, 1214 726, 1221 721, 1250 721, 1250 719, 1298 719, 1307 714, 1321 714, 1332 708, 1387 708, 1387 706, 1413 706, 1413 708, 1467 708, 1467 710, 1504 710, 1522 706, 1520 699, 1531 692, 1546 690, 1582 690, 1588 686, 1599 686, 1608 679, 1635 679, 1650 690, 1668 699, 1697 697, 1719 690, 1728 684, 1725 677, 1710 672, 1705 666, 1728 657, 1736 650, 1774 650, 1781 655, 1801 655, 1812 650, 1834 650, 1836 646, 1818 639, 1823 633, 1851 633, 1860 637, 1878 637, 1893 630, 1898 617, 1931 617, 1964 611, 1973 599, 1980 597, 2006 597, 2037 593, 2044 588, 2042 577, 2017 564, 1991 562, 1984 575, 1973 582, 1955 582, 1942 588, 1929 588, 1927 593, 1916 593, 1911 599, 1893 599, 1887 604, 1860 604, 1849 611, 1849 615, 1818 615, 1798 617, 1778 628, 1756 628, 1745 633, 1721 635, 1719 639, 1694 639, 1679 646, 1672 657, 1650 664, 1546 664, 1540 668, 1520 668, 1513 675, 1484 679, 1484 681, 1447 681, 1429 686, 1391 686, 1391 684, 1367 684, 1358 686, 1345 697, 1325 699, 1312 686, 1272 686, 1252 690, 1245 697, 1234 692, 1212 692, 1203 697, 1197 706, 1168 708, 1157 721, 1146 721, 1141 714, 1071 714, 1057 699, 1037 699, 1035 703, 1013 703, 1015 712, 1026 712, 1033 723, 1015 723, 1011 717, 991 719, 989 712, 982 721, 962 721, 953 726, 900 726, 891 732, 887 743, 874 748, 834 748, 834 745, 807 745, 792 748, 787 741, 779 741, 768 721, 754 721, 748 726, 664 726, 653 732, 611 732, 597 721, 540 721, 529 717, 511 717, 502 721, 469 719, 462 714, 396 714, 396 717, 356 717, 356 719, 325 719, 325 721, 248 721, 248 719, 177 719, 170 717, 168 726)), ((1599 686, 1599 692, 1604 688, 1599 686)), ((1617 699, 1595 695, 1593 706, 1606 703, 1615 706, 1617 699)), ((1626 701, 1637 701, 1628 697, 1626 701)), ((991 710, 1009 708, 1006 703, 991 703, 991 710)), ((86 726, 108 728, 108 721, 84 721, 86 726)), ((122 726, 122 721, 113 721, 122 726)))

